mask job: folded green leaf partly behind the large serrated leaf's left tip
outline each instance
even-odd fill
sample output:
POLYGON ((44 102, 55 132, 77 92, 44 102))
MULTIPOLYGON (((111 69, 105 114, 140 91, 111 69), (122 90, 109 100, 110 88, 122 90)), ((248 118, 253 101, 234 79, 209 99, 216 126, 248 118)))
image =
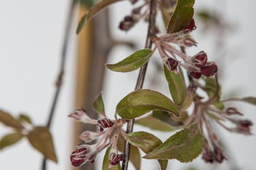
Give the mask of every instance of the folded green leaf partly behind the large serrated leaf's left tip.
MULTIPOLYGON (((133 146, 139 147, 144 153, 150 153, 158 146, 162 145, 162 141, 153 134, 147 132, 133 132, 127 135, 126 140, 133 146)), ((158 160, 161 170, 167 167, 167 160, 158 160)))

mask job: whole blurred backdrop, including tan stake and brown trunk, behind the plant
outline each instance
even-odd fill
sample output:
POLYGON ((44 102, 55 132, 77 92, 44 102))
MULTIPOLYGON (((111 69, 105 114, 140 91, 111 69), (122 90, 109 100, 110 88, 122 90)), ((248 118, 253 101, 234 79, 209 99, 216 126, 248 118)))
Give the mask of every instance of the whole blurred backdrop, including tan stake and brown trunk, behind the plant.
MULTIPOLYGON (((71 0, 0 1, 1 110, 13 116, 20 113, 30 115, 37 125, 45 126, 47 123, 71 4, 71 0)), ((120 21, 133 8, 129 1, 121 1, 102 11, 77 36, 78 21, 90 5, 91 1, 83 1, 82 5, 75 5, 74 8, 63 86, 50 127, 58 163, 48 161, 48 170, 72 169, 69 154, 80 143, 78 134, 84 129, 95 129, 69 119, 67 115, 73 108, 84 107, 92 116, 97 116, 91 103, 103 91, 106 114, 113 118, 116 104, 135 88, 139 70, 118 73, 107 70, 104 64, 116 63, 135 50, 144 48, 147 24, 140 21, 128 32, 118 29, 120 21), (129 46, 130 43, 135 46, 129 46)), ((187 53, 194 55, 203 50, 207 52, 209 60, 216 61, 221 74, 219 82, 223 98, 256 96, 255 8, 254 0, 196 0, 194 18, 197 29, 192 36, 199 44, 188 48, 187 53), (210 15, 210 19, 207 15, 210 15)), ((160 15, 157 24, 165 32, 160 15)), ((160 57, 156 52, 150 59, 143 87, 171 98, 159 63, 160 57)), ((255 122, 254 106, 236 104, 246 118, 255 122)), ((255 170, 255 135, 230 134, 220 127, 215 128, 230 161, 210 165, 199 156, 192 163, 170 160, 167 169, 255 170)), ((133 130, 151 131, 139 125, 135 125, 133 130)), ((10 131, 0 123, 0 137, 10 131)), ((255 127, 252 129, 254 132, 255 127)), ((165 141, 176 131, 152 133, 165 141)), ((86 164, 80 169, 100 170, 104 153, 102 151, 98 155, 94 164, 86 164)), ((38 170, 41 169, 42 158, 26 139, 22 139, 0 150, 0 169, 38 170)), ((146 159, 142 159, 141 167, 143 170, 159 169, 157 161, 146 159)), ((135 170, 133 165, 129 165, 129 170, 135 170)))

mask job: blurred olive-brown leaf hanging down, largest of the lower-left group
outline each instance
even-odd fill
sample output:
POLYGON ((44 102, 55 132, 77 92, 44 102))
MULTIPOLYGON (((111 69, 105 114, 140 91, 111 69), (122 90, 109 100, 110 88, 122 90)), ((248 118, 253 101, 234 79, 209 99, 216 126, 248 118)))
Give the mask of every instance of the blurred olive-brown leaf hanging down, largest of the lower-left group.
POLYGON ((30 144, 41 152, 46 159, 51 159, 57 163, 57 157, 54 151, 52 135, 47 127, 37 126, 27 135, 30 144))

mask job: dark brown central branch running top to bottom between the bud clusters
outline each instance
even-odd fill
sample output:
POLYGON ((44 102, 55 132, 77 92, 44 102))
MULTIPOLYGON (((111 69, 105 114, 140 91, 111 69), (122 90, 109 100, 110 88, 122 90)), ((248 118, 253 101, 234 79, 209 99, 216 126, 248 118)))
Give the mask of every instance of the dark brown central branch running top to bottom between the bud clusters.
MULTIPOLYGON (((145 48, 151 48, 152 46, 152 41, 151 37, 155 35, 155 16, 156 16, 156 0, 150 0, 150 19, 149 19, 149 25, 148 25, 148 33, 147 33, 147 40, 146 40, 146 46, 145 48)), ((135 87, 135 90, 141 89, 143 86, 146 70, 147 70, 147 64, 145 63, 141 68, 137 80, 137 84, 135 87)), ((127 124, 127 130, 126 133, 131 133, 133 130, 133 124, 134 124, 134 119, 129 120, 127 124)), ((124 160, 123 160, 123 165, 122 165, 122 170, 127 170, 128 168, 128 162, 129 162, 129 155, 130 155, 130 144, 129 142, 125 141, 125 146, 124 146, 124 160)))

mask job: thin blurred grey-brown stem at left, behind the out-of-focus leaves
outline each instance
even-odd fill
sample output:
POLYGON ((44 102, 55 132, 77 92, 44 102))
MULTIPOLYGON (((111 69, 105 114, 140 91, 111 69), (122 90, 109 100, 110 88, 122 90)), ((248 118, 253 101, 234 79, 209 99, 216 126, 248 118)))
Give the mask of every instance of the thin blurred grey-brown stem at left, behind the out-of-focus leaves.
MULTIPOLYGON (((55 111, 55 108, 57 105, 57 101, 59 99, 60 89, 61 89, 61 85, 63 82, 65 62, 66 62, 66 58, 67 58, 67 46, 68 46, 68 40, 69 40, 69 33, 70 33, 70 29, 71 29, 71 24, 72 24, 73 13, 74 13, 76 1, 77 0, 72 0, 70 8, 69 8, 68 16, 67 16, 68 18, 67 18, 67 23, 66 23, 66 28, 65 28, 64 40, 63 40, 63 46, 62 46, 62 52, 61 52, 61 59, 60 59, 60 70, 59 70, 59 74, 58 74, 57 81, 56 81, 56 90, 55 90, 55 93, 53 96, 52 107, 49 112, 48 122, 46 124, 46 126, 48 128, 50 128, 50 125, 52 123, 52 118, 53 118, 54 111, 55 111)), ((43 159, 42 170, 46 170, 46 159, 45 158, 43 159)))

